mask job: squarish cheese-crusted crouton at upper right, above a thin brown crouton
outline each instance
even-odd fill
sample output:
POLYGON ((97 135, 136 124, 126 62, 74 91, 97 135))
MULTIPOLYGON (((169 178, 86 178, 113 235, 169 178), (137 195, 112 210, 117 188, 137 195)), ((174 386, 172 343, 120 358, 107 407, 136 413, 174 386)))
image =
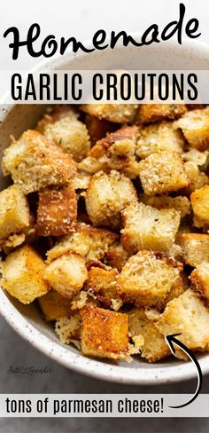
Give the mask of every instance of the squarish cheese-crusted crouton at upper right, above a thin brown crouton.
POLYGON ((159 152, 140 161, 143 191, 146 195, 171 193, 190 185, 179 154, 159 152))

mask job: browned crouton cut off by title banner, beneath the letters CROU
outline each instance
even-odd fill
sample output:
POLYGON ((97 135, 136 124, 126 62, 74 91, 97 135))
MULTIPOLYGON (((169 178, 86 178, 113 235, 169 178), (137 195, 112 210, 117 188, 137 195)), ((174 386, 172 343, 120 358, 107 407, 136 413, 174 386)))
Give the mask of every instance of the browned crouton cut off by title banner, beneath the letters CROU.
POLYGON ((86 104, 82 105, 84 113, 115 123, 132 123, 135 120, 137 105, 134 104, 86 104))

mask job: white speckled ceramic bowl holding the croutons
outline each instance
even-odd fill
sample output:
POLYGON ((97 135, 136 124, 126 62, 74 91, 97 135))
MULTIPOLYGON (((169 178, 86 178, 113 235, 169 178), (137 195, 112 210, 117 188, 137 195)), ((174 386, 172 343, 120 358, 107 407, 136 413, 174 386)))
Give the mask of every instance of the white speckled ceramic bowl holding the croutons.
MULTIPOLYGON (((114 50, 97 51, 93 54, 72 54, 44 65, 48 69, 208 69, 209 46, 204 43, 159 43, 137 49, 118 46, 114 50), (125 59, 125 61, 124 61, 125 59)), ((43 64, 40 65, 43 69, 43 64)), ((4 99, 5 101, 5 99, 4 99)), ((42 116, 44 106, 0 106, 0 159, 9 145, 9 136, 33 128, 42 116)), ((0 187, 5 187, 0 174, 0 187)), ((167 358, 155 365, 135 358, 128 364, 86 358, 71 346, 58 341, 53 327, 46 323, 35 305, 25 306, 0 289, 0 312, 8 323, 27 342, 42 350, 45 355, 63 366, 99 379, 130 383, 151 384, 180 382, 196 374, 195 366, 175 358, 167 358)), ((209 354, 198 356, 202 371, 209 373, 209 354)))

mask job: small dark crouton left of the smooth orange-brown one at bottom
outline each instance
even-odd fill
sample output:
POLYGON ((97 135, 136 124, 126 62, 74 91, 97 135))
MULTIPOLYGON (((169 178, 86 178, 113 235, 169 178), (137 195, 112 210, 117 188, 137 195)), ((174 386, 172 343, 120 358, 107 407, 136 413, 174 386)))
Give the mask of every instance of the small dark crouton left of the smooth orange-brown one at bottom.
POLYGON ((81 349, 81 315, 74 313, 70 317, 58 318, 55 331, 60 342, 69 344, 73 342, 77 349, 81 349))

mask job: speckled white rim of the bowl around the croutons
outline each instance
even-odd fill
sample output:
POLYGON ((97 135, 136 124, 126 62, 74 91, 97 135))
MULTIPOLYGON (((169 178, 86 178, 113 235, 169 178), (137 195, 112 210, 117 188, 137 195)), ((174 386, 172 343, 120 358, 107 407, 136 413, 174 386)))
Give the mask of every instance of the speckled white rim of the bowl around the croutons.
MULTIPOLYGON (((136 37, 140 37, 140 34, 132 34, 136 37)), ((90 46, 90 41, 85 43, 90 46)), ((166 43, 171 49, 176 48, 176 43, 170 41, 166 43)), ((184 48, 190 50, 195 54, 201 52, 203 56, 209 56, 209 45, 202 42, 183 42, 184 48)), ((120 44, 118 44, 120 48, 120 44)), ((42 62, 32 69, 32 71, 38 69, 58 69, 65 65, 67 61, 74 60, 75 57, 87 57, 85 53, 80 54, 69 54, 63 56, 63 58, 56 58, 47 62, 42 62)), ((3 116, 5 119, 7 114, 11 111, 13 105, 8 109, 7 104, 8 93, 1 99, 0 111, 3 107, 6 107, 6 112, 3 116)), ((155 364, 146 368, 145 366, 116 366, 110 365, 104 362, 99 362, 92 358, 87 358, 81 355, 81 353, 75 353, 69 349, 66 349, 65 345, 60 345, 57 342, 53 342, 48 336, 43 335, 36 327, 34 327, 29 320, 14 307, 10 299, 4 293, 3 289, 0 289, 0 313, 6 319, 8 324, 27 342, 31 343, 36 349, 41 350, 44 355, 57 361, 59 364, 70 368, 75 372, 88 375, 93 378, 97 378, 109 382, 127 383, 135 385, 151 385, 151 384, 162 384, 172 382, 182 382, 196 376, 196 368, 192 363, 179 362, 177 365, 167 365, 161 367, 160 364, 155 364)), ((204 355, 199 359, 199 363, 203 374, 209 373, 209 354, 204 355)))

